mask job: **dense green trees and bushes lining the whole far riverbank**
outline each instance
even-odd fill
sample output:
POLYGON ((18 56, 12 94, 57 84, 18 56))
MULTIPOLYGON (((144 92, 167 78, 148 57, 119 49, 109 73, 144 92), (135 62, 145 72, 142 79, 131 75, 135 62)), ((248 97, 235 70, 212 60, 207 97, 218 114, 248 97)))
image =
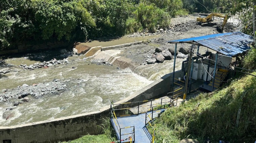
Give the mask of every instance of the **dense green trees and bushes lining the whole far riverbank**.
MULTIPOLYGON (((86 40, 166 28, 193 12, 239 14, 251 33, 252 0, 0 0, 0 50, 27 41, 86 40)), ((25 42, 25 43, 24 43, 25 42)))

